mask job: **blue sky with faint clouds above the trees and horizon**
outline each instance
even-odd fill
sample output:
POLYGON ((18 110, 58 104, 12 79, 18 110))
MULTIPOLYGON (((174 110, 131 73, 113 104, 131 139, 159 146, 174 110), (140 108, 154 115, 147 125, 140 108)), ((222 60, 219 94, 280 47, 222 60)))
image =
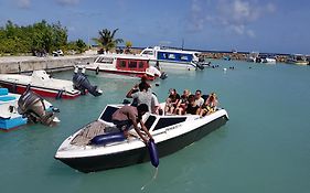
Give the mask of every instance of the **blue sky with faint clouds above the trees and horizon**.
POLYGON ((119 29, 136 47, 310 54, 309 10, 308 0, 0 0, 0 26, 60 21, 70 41, 90 44, 119 29))

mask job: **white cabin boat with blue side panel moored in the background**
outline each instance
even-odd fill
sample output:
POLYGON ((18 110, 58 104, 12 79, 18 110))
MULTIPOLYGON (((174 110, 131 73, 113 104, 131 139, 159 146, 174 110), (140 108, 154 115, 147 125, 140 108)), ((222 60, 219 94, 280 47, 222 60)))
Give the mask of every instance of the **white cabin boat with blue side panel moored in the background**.
POLYGON ((163 69, 203 69, 204 65, 210 65, 199 57, 201 53, 196 51, 154 46, 142 50, 140 55, 148 57, 152 65, 159 64, 163 69))

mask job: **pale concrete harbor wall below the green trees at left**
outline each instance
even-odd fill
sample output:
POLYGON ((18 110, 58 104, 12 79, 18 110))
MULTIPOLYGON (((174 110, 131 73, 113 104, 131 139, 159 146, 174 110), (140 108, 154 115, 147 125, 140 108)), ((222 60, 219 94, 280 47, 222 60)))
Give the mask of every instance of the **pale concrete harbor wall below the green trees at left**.
POLYGON ((96 56, 62 57, 0 57, 0 74, 29 73, 36 69, 58 72, 72 69, 76 64, 94 62, 96 56))

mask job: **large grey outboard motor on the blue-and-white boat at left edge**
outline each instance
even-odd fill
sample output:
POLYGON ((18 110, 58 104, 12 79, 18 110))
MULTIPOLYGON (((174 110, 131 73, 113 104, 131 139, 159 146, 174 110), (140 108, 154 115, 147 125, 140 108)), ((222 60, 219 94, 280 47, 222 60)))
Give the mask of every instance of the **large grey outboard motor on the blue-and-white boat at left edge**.
POLYGON ((19 114, 32 122, 50 126, 58 120, 54 115, 54 109, 46 110, 44 99, 30 89, 20 96, 18 105, 19 114))

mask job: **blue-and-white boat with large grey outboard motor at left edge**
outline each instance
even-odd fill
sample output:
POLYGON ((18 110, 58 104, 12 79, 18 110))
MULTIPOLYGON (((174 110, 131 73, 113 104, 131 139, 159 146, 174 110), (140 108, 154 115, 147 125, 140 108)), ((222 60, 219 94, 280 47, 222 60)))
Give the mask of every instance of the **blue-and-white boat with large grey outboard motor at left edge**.
POLYGON ((10 130, 26 122, 52 125, 58 122, 52 104, 31 90, 23 95, 11 94, 8 88, 0 88, 0 129, 10 130))

